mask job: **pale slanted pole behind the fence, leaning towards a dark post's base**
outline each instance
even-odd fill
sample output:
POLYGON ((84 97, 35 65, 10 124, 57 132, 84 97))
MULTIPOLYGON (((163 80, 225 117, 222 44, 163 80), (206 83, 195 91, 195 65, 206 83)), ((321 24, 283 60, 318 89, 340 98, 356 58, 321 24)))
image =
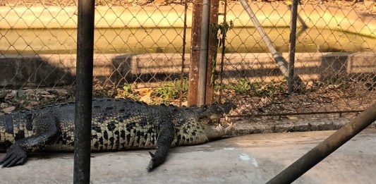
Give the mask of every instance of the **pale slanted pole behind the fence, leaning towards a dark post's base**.
MULTIPOLYGON (((281 70, 281 73, 284 74, 286 78, 289 78, 289 70, 288 68, 286 68, 287 61, 275 49, 274 44, 272 43, 272 40, 267 36, 267 33, 265 32, 265 30, 262 29, 260 22, 257 20, 255 13, 253 13, 248 2, 246 0, 241 0, 241 5, 245 9, 245 11, 247 11, 248 16, 250 17, 250 20, 252 20, 253 24, 255 25, 257 32, 260 34, 265 44, 267 44, 267 49, 269 50, 270 54, 272 54, 274 61, 277 63, 279 70, 281 70)), ((294 80, 294 84, 296 84, 296 88, 298 88, 295 90, 300 90, 300 88, 303 87, 304 83, 301 80, 301 78, 297 78, 296 76, 294 76, 292 80, 294 80)))

